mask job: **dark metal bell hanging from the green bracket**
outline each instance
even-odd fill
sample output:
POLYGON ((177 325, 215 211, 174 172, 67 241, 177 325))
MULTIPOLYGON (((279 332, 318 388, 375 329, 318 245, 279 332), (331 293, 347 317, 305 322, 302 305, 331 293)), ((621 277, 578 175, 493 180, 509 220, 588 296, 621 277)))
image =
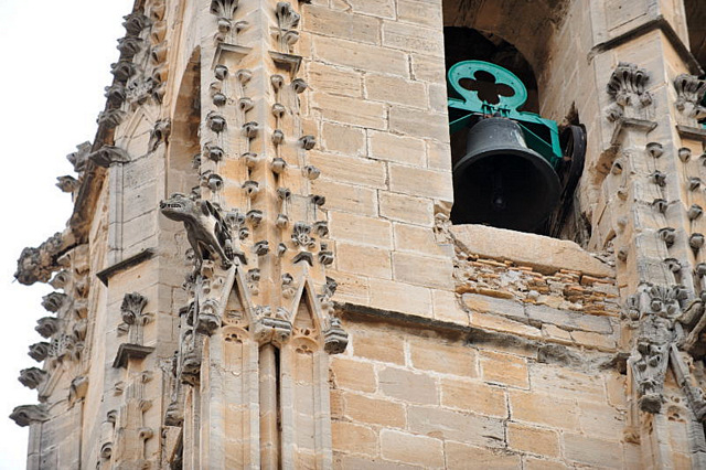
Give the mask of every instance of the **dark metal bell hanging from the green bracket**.
POLYGON ((453 193, 456 224, 533 232, 556 206, 560 184, 516 122, 491 117, 468 132, 466 157, 453 167, 453 193))

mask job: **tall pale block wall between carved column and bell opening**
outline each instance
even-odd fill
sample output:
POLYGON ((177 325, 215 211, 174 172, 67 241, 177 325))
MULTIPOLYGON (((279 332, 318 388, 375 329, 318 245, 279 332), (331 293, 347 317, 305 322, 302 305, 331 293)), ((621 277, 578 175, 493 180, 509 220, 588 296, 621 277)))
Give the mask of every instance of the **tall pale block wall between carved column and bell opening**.
POLYGON ((327 196, 338 299, 442 314, 453 266, 431 229, 452 197, 441 2, 313 1, 302 13, 302 108, 320 142, 308 160, 321 169, 312 190, 327 196))

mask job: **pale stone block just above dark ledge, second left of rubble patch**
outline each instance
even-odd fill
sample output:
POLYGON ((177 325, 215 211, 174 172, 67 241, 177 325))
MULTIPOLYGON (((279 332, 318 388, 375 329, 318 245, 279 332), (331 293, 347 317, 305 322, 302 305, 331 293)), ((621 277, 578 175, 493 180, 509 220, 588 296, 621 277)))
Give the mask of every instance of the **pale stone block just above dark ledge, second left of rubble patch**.
POLYGON ((399 281, 372 281, 371 307, 431 317, 431 291, 426 287, 399 281))

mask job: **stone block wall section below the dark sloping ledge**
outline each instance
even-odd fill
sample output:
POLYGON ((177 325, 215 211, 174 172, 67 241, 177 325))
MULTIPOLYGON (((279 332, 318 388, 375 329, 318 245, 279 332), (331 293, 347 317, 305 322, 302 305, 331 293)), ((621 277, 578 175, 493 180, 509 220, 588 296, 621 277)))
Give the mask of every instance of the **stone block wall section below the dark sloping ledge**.
POLYGON ((536 344, 346 318, 330 376, 336 468, 640 468, 622 439, 625 376, 606 355, 561 362, 536 344))

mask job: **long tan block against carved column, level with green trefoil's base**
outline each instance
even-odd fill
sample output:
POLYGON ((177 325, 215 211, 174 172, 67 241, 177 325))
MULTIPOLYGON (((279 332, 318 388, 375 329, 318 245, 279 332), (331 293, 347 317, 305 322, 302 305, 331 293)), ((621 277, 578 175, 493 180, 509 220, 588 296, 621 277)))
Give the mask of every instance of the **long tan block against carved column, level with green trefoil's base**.
POLYGON ((387 127, 387 110, 382 103, 320 92, 311 95, 311 107, 319 110, 324 119, 371 129, 387 127))

